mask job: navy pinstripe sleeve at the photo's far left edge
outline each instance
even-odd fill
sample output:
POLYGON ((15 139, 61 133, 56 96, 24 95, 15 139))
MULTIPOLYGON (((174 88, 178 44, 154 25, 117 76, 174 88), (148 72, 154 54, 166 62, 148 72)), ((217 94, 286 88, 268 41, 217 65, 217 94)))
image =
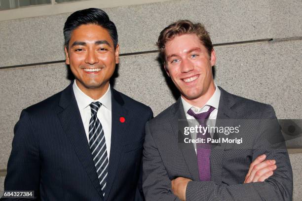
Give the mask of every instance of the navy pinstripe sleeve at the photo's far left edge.
POLYGON ((35 136, 30 115, 26 110, 23 110, 14 128, 12 150, 7 164, 4 190, 34 191, 35 198, 38 199, 39 174, 38 140, 35 136))

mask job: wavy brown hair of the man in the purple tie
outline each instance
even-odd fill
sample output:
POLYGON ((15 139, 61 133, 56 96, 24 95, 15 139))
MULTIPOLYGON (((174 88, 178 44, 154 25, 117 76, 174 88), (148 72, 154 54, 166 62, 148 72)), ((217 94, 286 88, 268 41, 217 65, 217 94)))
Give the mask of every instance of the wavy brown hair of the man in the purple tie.
POLYGON ((179 20, 164 28, 159 36, 156 45, 159 49, 159 57, 165 64, 165 45, 168 41, 172 40, 177 35, 183 34, 196 34, 200 42, 206 47, 209 56, 213 50, 213 44, 209 33, 205 30, 204 26, 200 23, 192 23, 189 20, 179 20))

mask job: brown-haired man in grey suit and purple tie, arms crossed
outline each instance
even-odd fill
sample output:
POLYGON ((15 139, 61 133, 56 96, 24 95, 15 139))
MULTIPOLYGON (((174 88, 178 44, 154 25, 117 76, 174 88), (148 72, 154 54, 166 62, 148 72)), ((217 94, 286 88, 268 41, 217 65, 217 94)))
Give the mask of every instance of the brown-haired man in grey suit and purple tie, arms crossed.
POLYGON ((216 53, 203 25, 175 22, 157 45, 181 97, 146 124, 146 200, 292 200, 292 168, 273 108, 214 83, 216 53), (227 133, 230 126, 238 132, 227 133))

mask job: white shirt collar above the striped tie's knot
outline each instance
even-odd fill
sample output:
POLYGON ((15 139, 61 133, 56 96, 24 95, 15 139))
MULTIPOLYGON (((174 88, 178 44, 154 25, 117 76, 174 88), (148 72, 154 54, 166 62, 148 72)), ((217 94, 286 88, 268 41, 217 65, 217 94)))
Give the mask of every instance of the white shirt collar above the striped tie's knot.
POLYGON ((76 102, 77 102, 77 106, 79 108, 79 110, 82 110, 84 108, 86 108, 88 105, 90 105, 91 102, 101 102, 102 105, 104 105, 107 109, 109 109, 111 111, 111 90, 110 90, 110 84, 109 87, 107 89, 107 92, 98 100, 93 100, 92 98, 90 98, 89 96, 87 96, 84 92, 82 92, 77 84, 76 84, 76 80, 74 81, 73 84, 73 90, 75 93, 75 97, 76 97, 76 102))

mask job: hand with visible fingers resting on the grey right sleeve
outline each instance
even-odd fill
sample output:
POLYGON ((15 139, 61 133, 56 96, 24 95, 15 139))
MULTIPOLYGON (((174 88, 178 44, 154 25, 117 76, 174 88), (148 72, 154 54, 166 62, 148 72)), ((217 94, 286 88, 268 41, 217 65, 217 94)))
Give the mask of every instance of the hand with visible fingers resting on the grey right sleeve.
POLYGON ((258 156, 253 163, 251 163, 249 171, 245 176, 244 183, 264 181, 271 175, 273 170, 277 168, 275 160, 265 160, 266 155, 258 156))

